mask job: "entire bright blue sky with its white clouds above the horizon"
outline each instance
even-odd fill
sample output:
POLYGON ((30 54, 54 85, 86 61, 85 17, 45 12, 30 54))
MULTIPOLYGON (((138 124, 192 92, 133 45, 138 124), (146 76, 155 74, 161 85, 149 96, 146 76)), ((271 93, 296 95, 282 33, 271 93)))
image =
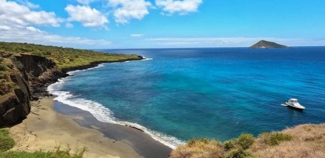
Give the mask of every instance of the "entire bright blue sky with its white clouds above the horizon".
POLYGON ((325 45, 325 0, 0 0, 0 41, 85 49, 325 45))

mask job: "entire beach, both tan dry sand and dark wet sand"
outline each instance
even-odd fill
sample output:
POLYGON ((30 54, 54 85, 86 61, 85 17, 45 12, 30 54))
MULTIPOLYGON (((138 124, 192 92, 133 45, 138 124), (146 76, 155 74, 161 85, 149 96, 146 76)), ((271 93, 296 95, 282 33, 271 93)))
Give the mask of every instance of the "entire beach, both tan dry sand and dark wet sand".
POLYGON ((69 144, 72 149, 87 147, 86 158, 166 158, 171 151, 141 131, 99 122, 52 97, 31 104, 28 118, 8 128, 16 142, 11 150, 49 151, 69 144))

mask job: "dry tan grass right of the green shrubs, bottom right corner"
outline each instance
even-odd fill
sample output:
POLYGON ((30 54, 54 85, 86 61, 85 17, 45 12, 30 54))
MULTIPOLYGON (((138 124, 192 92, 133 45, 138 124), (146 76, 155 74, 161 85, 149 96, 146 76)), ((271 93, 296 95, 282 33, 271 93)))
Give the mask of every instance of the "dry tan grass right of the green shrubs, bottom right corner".
POLYGON ((252 151, 257 158, 325 158, 325 124, 299 125, 282 133, 293 136, 291 141, 283 141, 270 146, 265 143, 265 135, 260 135, 252 151))

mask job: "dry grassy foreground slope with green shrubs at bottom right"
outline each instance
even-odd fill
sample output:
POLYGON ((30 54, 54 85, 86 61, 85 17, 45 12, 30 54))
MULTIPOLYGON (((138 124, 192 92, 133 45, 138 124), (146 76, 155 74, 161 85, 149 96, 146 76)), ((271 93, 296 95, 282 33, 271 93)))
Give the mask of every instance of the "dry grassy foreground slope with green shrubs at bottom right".
POLYGON ((169 158, 325 158, 325 124, 264 132, 257 138, 242 134, 225 142, 193 139, 169 158))

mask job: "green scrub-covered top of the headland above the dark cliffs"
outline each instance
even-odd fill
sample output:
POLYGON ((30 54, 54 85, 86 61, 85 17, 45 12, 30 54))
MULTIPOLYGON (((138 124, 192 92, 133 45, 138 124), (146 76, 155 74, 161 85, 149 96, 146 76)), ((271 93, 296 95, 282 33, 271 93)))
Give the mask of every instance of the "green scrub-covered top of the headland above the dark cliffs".
POLYGON ((20 53, 35 54, 52 59, 59 68, 74 68, 90 65, 93 62, 114 62, 142 58, 135 54, 112 54, 27 43, 0 42, 0 98, 17 87, 11 81, 10 74, 13 68, 20 69, 23 67, 22 63, 13 57, 20 53))

